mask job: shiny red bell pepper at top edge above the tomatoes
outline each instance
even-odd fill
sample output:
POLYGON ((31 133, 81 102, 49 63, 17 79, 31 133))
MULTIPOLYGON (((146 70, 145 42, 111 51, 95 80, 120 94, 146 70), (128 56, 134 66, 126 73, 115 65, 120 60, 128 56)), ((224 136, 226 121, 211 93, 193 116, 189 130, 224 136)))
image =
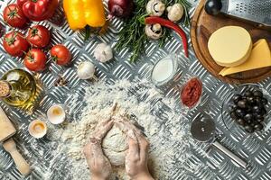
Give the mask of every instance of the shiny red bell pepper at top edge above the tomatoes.
POLYGON ((51 18, 59 5, 58 0, 17 0, 23 14, 30 20, 41 22, 51 18))

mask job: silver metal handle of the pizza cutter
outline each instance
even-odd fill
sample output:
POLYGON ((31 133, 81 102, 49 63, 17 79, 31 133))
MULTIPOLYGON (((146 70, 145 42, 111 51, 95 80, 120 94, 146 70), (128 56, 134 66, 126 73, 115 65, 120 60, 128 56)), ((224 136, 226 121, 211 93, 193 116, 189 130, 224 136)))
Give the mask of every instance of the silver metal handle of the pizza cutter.
POLYGON ((248 163, 246 161, 233 154, 233 152, 231 152, 228 148, 221 145, 219 141, 215 140, 212 145, 216 148, 219 148, 220 151, 222 151, 225 155, 234 160, 239 166, 242 166, 245 169, 248 168, 248 163))

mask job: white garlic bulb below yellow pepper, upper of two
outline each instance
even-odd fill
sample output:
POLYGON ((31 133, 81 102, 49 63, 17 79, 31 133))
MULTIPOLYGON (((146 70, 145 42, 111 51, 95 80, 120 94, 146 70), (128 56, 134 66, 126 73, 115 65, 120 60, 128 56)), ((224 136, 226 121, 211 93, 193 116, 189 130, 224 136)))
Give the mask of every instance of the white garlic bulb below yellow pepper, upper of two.
POLYGON ((111 58, 113 58, 113 52, 109 45, 106 43, 100 43, 94 49, 94 57, 98 59, 100 62, 107 62, 111 58))

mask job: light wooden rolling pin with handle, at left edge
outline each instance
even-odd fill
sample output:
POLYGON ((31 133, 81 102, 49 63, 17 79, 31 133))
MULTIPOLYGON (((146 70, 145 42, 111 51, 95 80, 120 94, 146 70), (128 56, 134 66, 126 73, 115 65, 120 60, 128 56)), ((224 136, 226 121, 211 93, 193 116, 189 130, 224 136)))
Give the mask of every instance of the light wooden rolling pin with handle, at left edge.
POLYGON ((14 125, 0 107, 0 143, 3 143, 5 150, 13 157, 19 172, 22 175, 28 175, 30 173, 30 166, 18 152, 14 139, 11 138, 15 133, 14 125))

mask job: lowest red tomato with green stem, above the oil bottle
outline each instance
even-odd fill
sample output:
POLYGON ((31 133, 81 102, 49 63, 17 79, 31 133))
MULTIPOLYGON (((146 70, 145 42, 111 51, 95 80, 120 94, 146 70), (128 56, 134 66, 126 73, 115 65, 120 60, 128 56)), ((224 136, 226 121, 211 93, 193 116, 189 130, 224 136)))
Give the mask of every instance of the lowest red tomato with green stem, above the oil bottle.
POLYGON ((41 49, 30 49, 23 59, 24 66, 32 71, 41 71, 46 65, 46 55, 41 49))

